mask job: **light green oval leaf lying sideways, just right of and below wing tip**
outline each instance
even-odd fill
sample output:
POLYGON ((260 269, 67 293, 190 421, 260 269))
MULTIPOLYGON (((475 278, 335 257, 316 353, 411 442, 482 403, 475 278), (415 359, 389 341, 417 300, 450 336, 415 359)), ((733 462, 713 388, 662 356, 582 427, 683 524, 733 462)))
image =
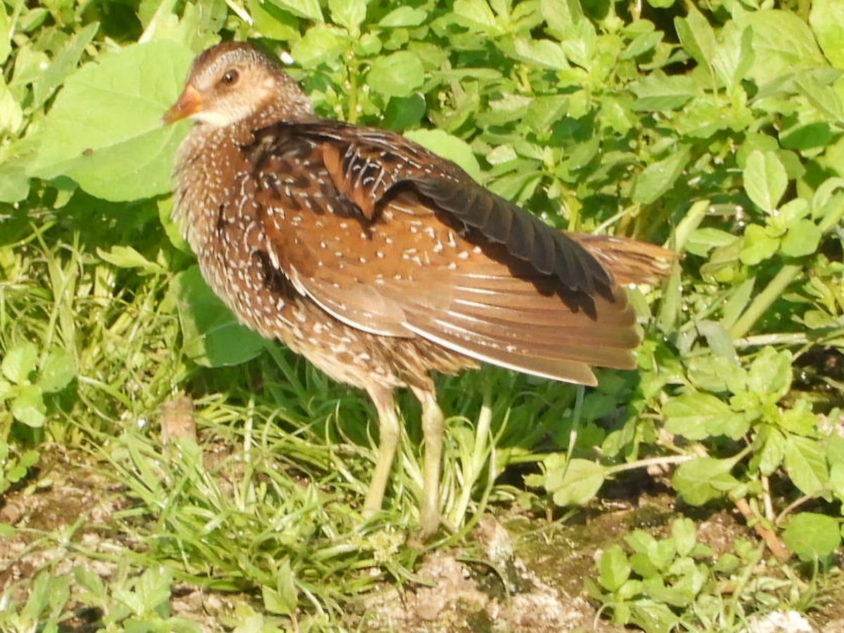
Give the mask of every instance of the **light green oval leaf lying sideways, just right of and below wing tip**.
POLYGON ((709 393, 684 393, 671 398, 663 406, 663 414, 665 430, 690 440, 721 435, 736 440, 749 428, 743 414, 709 393))

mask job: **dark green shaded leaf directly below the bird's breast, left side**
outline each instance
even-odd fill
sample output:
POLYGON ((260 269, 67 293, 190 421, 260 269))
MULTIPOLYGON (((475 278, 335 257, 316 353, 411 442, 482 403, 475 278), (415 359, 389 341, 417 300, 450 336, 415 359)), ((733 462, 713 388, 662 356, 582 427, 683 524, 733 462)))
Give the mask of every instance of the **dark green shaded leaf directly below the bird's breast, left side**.
POLYGON ((170 282, 185 353, 199 365, 239 365, 261 353, 265 340, 237 322, 193 266, 170 282))

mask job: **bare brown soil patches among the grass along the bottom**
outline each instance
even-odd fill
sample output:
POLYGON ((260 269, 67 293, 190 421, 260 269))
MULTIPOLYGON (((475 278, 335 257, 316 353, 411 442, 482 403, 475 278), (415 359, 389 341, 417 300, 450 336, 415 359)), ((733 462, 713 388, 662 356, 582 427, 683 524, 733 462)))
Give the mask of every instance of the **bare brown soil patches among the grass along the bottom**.
MULTIPOLYGON (((674 496, 658 485, 651 488, 642 492, 638 487, 616 486, 600 504, 562 523, 552 524, 518 509, 485 516, 472 533, 475 551, 483 556, 469 556, 462 549, 426 555, 417 570, 419 582, 398 587, 382 582, 375 591, 350 601, 347 628, 419 633, 622 630, 598 617, 583 579, 595 574, 600 550, 619 543, 631 528, 646 529, 657 538, 668 535, 669 523, 679 516, 674 496)), ((50 565, 55 574, 82 565, 111 578, 117 565, 108 560, 137 546, 111 526, 112 515, 130 504, 121 492, 119 484, 86 467, 79 456, 56 450, 42 459, 36 483, 0 499, 0 522, 18 528, 12 538, 0 538, 0 595, 8 591, 25 600, 25 595, 16 595, 21 591, 17 582, 50 565), (41 538, 62 531, 82 547, 64 548, 55 538, 41 538), (85 555, 78 554, 80 549, 85 555)), ((736 538, 755 538, 740 517, 728 511, 693 518, 698 538, 716 553, 731 549, 736 538)), ((844 600, 827 598, 825 609, 812 614, 812 625, 801 619, 799 625, 766 624, 754 630, 844 631, 844 615, 839 613, 844 600), (803 625, 809 628, 800 628, 803 625)), ((243 599, 260 609, 256 597, 176 585, 173 614, 197 622, 203 630, 226 630, 220 614, 230 613, 235 600, 243 599)), ((95 616, 80 614, 62 630, 95 630, 90 621, 95 616)))

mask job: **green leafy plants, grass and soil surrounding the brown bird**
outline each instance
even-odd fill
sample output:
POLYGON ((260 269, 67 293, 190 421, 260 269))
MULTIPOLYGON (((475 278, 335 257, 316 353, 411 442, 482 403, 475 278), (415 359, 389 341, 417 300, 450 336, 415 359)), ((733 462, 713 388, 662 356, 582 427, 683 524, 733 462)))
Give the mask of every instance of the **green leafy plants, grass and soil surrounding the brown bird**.
POLYGON ((844 617, 842 22, 841 0, 4 0, 0 630, 844 617), (170 223, 187 128, 160 117, 220 38, 550 225, 682 256, 630 289, 638 370, 582 401, 438 379, 454 531, 429 544, 414 398, 362 522, 365 396, 239 327, 170 223))

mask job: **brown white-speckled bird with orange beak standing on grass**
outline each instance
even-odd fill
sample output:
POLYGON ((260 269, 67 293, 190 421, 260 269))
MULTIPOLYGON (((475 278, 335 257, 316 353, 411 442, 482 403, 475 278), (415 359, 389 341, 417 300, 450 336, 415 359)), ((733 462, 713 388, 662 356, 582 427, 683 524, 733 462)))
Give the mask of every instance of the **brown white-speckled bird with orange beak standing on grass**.
POLYGON ((246 42, 200 53, 165 124, 190 119, 172 218, 203 278, 247 327, 367 392, 378 448, 362 516, 381 511, 400 439, 394 393, 421 404, 419 535, 441 527, 444 414, 432 373, 479 363, 578 385, 634 369, 625 284, 662 247, 565 233, 397 133, 317 116, 246 42))

